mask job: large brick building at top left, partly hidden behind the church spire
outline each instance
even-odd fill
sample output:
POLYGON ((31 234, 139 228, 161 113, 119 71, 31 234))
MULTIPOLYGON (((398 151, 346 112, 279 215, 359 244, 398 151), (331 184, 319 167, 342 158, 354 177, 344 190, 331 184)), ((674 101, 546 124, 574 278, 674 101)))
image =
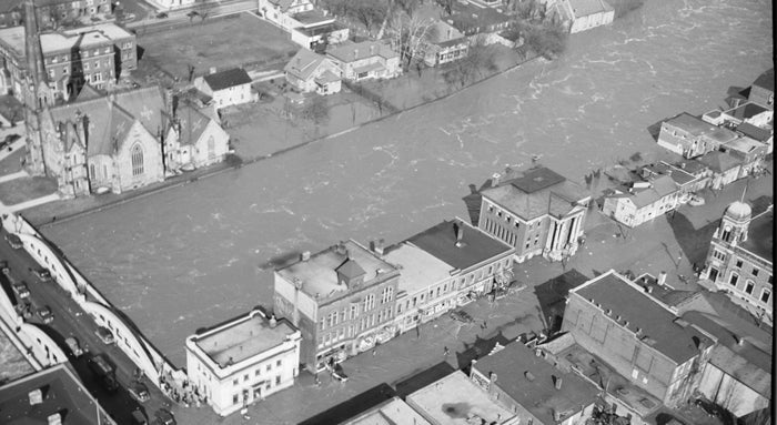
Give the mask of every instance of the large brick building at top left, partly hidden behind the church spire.
MULTIPOLYGON (((138 67, 134 34, 114 23, 103 23, 39 36, 47 84, 57 98, 69 100, 85 84, 110 90, 118 79, 138 67)), ((20 101, 28 72, 27 30, 0 30, 0 54, 9 75, 8 90, 20 101)))

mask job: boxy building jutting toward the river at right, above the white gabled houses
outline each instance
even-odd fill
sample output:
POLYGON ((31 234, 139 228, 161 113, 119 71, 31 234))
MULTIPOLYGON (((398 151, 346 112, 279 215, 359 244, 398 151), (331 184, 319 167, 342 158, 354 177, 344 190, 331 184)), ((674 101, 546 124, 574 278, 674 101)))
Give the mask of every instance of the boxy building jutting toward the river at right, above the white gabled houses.
POLYGON ((684 112, 662 122, 658 145, 692 159, 717 151, 722 144, 736 138, 733 130, 712 125, 684 112))

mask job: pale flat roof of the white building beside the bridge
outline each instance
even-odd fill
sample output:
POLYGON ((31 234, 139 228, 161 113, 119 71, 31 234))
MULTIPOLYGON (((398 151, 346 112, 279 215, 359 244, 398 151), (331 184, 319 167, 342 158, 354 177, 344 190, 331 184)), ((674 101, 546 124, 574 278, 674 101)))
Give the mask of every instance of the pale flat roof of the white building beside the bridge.
POLYGON ((261 354, 286 340, 296 330, 285 320, 279 318, 270 326, 261 313, 241 317, 192 338, 219 366, 240 363, 261 354))

